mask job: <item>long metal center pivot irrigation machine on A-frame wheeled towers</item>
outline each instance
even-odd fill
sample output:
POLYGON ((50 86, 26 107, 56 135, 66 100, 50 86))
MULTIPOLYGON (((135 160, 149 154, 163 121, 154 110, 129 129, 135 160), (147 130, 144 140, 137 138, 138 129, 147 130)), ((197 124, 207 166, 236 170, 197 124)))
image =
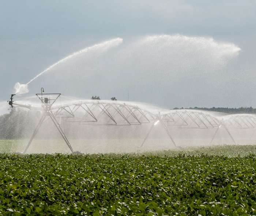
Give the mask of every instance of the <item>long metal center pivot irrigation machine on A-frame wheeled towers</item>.
POLYGON ((74 154, 82 153, 73 150, 64 130, 61 128, 60 121, 58 121, 60 118, 65 119, 66 122, 79 123, 80 125, 134 126, 148 124, 150 125, 149 130, 139 147, 144 145, 151 131, 158 124, 161 124, 170 139, 170 143, 175 147, 178 147, 173 138, 173 131, 175 130, 212 129, 211 144, 220 128, 223 128, 226 131, 226 135, 236 144, 230 129, 254 129, 251 134, 252 138, 256 128, 256 115, 252 114, 225 115, 223 113, 200 110, 166 110, 145 104, 110 100, 82 100, 72 103, 69 101, 67 104, 60 104, 56 102, 60 95, 60 93, 44 93, 44 88, 41 88, 41 93, 36 94, 41 102, 39 106, 38 104, 15 103, 14 94, 11 95, 11 100, 8 103, 12 108, 23 107, 43 113, 23 152, 24 154, 27 152, 41 125, 49 118, 53 121, 65 143, 74 154))

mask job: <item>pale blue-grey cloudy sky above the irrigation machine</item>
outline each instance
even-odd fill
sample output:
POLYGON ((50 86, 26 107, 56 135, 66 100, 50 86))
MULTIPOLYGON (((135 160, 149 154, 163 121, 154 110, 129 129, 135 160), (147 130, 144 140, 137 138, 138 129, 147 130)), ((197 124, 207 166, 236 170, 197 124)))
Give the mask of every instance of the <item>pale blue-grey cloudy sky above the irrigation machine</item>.
POLYGON ((255 0, 0 0, 0 106, 44 88, 256 108, 255 11, 255 0))

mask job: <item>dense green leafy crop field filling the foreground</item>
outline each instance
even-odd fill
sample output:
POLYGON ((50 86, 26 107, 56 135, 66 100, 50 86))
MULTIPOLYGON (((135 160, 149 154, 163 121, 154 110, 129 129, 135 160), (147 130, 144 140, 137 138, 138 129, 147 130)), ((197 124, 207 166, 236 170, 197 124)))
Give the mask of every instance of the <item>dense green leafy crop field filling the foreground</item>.
POLYGON ((256 215, 256 146, 0 154, 0 215, 256 215))

